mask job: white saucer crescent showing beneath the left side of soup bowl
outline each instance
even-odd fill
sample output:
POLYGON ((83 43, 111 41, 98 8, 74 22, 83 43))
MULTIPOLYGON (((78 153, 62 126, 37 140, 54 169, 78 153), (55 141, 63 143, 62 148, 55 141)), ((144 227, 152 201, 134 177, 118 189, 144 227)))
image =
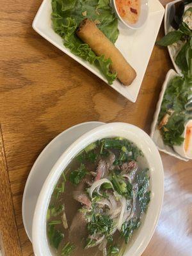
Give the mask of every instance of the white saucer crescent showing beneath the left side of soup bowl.
POLYGON ((22 196, 22 220, 30 241, 32 241, 32 223, 36 202, 52 167, 77 138, 103 124, 105 123, 85 122, 68 128, 49 142, 36 159, 29 173, 22 196))

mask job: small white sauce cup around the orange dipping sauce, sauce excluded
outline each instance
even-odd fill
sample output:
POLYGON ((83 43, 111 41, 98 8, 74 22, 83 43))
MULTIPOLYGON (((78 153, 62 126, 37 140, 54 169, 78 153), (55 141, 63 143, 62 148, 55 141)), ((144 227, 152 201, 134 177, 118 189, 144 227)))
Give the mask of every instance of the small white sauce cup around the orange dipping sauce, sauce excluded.
POLYGON ((136 22, 135 24, 131 24, 129 22, 127 22, 126 20, 122 19, 122 17, 120 16, 118 9, 116 8, 116 2, 115 0, 112 1, 113 3, 113 7, 115 9, 115 13, 118 17, 118 19, 127 27, 127 28, 131 28, 131 29, 140 29, 144 26, 145 22, 148 19, 148 0, 141 0, 141 13, 140 13, 140 17, 138 19, 138 22, 136 22))

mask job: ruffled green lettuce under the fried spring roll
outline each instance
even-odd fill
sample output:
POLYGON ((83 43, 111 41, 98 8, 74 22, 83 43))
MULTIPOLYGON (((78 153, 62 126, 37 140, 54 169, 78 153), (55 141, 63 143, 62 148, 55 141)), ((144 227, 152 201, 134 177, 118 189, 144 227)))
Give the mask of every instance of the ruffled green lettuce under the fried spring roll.
POLYGON ((98 28, 113 44, 116 42, 119 34, 118 20, 109 6, 109 0, 52 0, 52 25, 54 31, 63 38, 65 47, 98 67, 108 83, 112 84, 116 74, 109 70, 111 60, 96 56, 89 45, 76 36, 77 27, 86 17, 97 20, 98 28))

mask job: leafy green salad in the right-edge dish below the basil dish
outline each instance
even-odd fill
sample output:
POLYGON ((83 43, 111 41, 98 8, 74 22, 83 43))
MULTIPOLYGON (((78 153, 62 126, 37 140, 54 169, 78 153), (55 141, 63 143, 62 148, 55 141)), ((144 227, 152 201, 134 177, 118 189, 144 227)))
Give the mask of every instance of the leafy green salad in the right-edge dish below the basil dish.
POLYGON ((192 80, 188 77, 173 77, 164 93, 158 123, 160 124, 168 110, 172 109, 173 114, 168 118, 168 122, 161 127, 164 144, 170 147, 181 145, 184 141, 182 138, 184 124, 190 118, 185 106, 191 95, 191 83, 192 80))

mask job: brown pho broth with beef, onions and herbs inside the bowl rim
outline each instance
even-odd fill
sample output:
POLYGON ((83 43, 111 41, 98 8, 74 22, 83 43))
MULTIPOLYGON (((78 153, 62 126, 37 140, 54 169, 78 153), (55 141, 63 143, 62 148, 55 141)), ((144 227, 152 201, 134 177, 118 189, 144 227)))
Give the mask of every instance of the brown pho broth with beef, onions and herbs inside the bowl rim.
POLYGON ((88 145, 68 164, 47 210, 53 255, 123 255, 150 201, 141 150, 123 138, 88 145))

